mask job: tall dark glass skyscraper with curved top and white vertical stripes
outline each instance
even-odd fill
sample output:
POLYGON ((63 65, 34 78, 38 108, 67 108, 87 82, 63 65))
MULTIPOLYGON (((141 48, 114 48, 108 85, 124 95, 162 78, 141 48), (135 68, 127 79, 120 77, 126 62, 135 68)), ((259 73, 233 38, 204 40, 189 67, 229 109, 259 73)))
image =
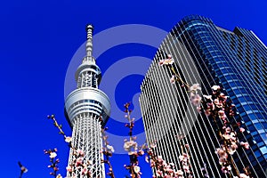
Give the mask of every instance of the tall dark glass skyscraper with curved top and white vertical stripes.
POLYGON ((230 31, 206 17, 190 15, 166 36, 142 82, 143 123, 147 141, 157 142, 157 154, 178 165, 180 145, 188 143, 194 177, 207 173, 218 178, 228 177, 214 153, 220 145, 215 136, 218 131, 191 106, 181 84, 171 84, 172 70, 158 65, 169 54, 182 80, 199 83, 203 94, 211 93, 212 85, 224 88, 236 106, 236 123, 246 129, 239 140, 250 145, 249 150, 239 148, 232 156, 233 165, 240 173, 248 166, 254 177, 266 177, 267 47, 251 30, 230 31))

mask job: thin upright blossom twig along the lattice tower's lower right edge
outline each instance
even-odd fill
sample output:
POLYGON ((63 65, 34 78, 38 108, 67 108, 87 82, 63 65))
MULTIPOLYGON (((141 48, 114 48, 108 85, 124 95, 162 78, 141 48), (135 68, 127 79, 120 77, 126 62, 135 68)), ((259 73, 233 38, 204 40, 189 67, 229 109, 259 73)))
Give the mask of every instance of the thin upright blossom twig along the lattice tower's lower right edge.
POLYGON ((103 148, 102 148, 102 153, 104 155, 104 159, 101 160, 102 163, 105 163, 109 166, 109 172, 107 173, 111 178, 115 178, 114 172, 113 172, 113 168, 109 162, 109 158, 112 157, 112 153, 114 152, 114 148, 109 145, 108 142, 108 135, 106 135, 105 131, 108 130, 108 127, 105 127, 101 130, 101 134, 102 134, 102 139, 103 139, 103 148))

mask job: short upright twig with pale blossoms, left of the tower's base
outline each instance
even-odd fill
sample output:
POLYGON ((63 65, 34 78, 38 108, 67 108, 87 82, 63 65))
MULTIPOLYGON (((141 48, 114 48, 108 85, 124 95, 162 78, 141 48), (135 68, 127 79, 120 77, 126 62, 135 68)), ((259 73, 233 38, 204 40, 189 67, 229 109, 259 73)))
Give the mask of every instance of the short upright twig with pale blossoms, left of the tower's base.
POLYGON ((49 155, 50 158, 50 165, 48 166, 48 168, 52 168, 53 171, 50 172, 51 175, 53 175, 56 178, 62 178, 61 174, 58 174, 57 172, 59 171, 59 166, 58 164, 60 163, 60 159, 56 158, 57 157, 57 149, 53 149, 53 150, 44 150, 44 154, 45 155, 49 155))

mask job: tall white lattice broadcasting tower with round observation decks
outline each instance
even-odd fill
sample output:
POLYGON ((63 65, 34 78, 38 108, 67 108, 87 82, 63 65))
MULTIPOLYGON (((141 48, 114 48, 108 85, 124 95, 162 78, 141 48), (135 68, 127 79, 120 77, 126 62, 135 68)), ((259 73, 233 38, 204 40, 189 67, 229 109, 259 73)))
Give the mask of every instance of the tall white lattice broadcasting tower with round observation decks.
MULTIPOLYGON (((93 26, 86 26, 87 42, 86 56, 77 68, 75 77, 77 89, 69 93, 65 101, 65 115, 72 127, 72 147, 85 152, 84 159, 90 160, 92 177, 105 177, 104 165, 101 163, 103 155, 101 128, 107 123, 110 114, 110 101, 98 86, 101 82, 101 69, 93 58, 93 26)), ((69 166, 77 160, 77 152, 70 149, 69 166)), ((70 178, 86 177, 81 168, 74 169, 67 174, 70 178)))

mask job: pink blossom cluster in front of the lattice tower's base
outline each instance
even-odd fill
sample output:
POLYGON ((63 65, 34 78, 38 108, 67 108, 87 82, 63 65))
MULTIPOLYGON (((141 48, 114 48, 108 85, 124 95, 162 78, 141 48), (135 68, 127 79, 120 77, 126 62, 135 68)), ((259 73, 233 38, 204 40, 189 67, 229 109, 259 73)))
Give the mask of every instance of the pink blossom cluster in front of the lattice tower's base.
POLYGON ((72 178, 77 177, 77 173, 85 175, 86 177, 92 177, 92 173, 90 171, 93 163, 90 160, 85 158, 85 152, 83 150, 72 150, 73 158, 72 162, 69 166, 66 167, 67 172, 72 176, 72 178))

